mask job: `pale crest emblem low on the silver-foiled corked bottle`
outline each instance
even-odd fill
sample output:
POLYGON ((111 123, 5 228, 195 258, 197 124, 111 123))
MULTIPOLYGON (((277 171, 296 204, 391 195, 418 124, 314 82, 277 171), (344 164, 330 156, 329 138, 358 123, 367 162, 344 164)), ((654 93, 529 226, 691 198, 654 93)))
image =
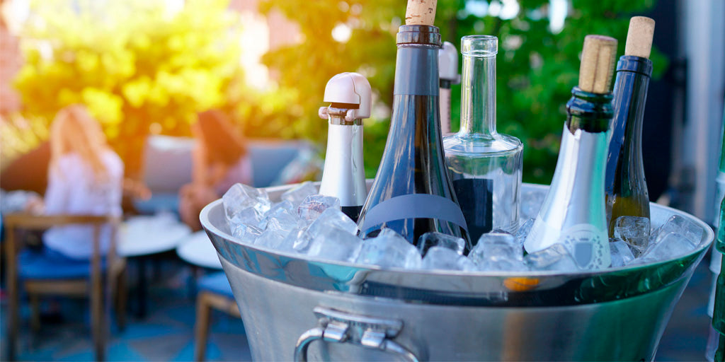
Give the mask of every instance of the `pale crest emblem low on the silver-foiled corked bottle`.
POLYGON ((607 232, 592 224, 576 224, 564 230, 560 242, 580 269, 603 269, 611 264, 607 232))

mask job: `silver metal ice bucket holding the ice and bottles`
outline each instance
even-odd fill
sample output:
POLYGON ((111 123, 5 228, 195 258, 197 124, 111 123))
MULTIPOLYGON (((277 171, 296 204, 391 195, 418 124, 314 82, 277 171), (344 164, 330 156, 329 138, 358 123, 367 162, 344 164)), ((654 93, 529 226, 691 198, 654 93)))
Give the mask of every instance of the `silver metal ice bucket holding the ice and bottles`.
MULTIPOLYGON (((286 188, 269 188, 270 198, 286 188)), ((380 269, 241 244, 221 200, 201 220, 255 361, 652 361, 713 232, 665 206, 651 214, 654 227, 683 216, 703 240, 657 264, 536 275, 380 269)))

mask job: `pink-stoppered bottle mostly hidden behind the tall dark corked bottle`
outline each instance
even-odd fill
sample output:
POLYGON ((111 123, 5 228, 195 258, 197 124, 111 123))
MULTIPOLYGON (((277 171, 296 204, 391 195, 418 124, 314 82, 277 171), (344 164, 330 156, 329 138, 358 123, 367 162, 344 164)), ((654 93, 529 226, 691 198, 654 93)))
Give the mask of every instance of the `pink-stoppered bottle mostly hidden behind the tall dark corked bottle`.
POLYGON ((451 132, 451 86, 460 81, 458 53, 452 43, 443 42, 443 47, 438 51, 438 66, 441 134, 445 136, 451 132))

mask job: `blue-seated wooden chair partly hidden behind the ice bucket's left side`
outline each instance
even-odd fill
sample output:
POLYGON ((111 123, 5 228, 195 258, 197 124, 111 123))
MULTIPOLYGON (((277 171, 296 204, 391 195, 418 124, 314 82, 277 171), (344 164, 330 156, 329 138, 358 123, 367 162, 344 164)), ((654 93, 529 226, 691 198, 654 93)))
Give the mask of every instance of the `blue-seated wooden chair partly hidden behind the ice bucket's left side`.
POLYGON ((196 322, 194 324, 194 360, 204 361, 207 353, 211 309, 241 318, 231 286, 223 271, 199 278, 196 295, 196 322))

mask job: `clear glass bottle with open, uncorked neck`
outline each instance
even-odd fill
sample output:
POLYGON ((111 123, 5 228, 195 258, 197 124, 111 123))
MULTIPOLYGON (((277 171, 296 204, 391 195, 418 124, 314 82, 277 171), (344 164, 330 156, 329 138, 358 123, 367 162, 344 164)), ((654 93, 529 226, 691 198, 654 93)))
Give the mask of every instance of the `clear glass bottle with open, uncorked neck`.
POLYGON ((453 188, 473 245, 484 232, 518 228, 523 144, 496 132, 498 38, 461 38, 460 130, 443 139, 453 188))

